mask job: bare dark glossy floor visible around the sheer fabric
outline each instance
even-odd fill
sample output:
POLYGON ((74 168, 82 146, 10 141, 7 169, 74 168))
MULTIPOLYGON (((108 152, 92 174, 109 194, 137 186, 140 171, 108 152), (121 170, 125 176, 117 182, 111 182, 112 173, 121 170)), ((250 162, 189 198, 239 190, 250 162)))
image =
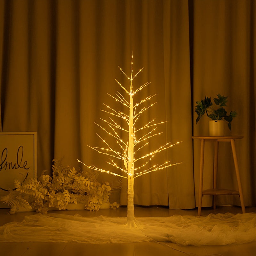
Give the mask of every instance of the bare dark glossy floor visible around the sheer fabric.
MULTIPOLYGON (((126 207, 105 209, 97 212, 90 211, 58 211, 61 214, 80 214, 82 216, 126 216, 126 207)), ((7 214, 8 209, 0 209, 0 226, 11 221, 22 221, 24 216, 35 212, 19 212, 7 214)), ((241 213, 240 207, 219 206, 216 210, 203 208, 201 215, 209 213, 241 213)), ((246 212, 256 212, 256 207, 247 207, 246 212)), ((135 206, 135 216, 166 217, 174 214, 197 215, 197 209, 170 210, 167 207, 135 206)), ((172 243, 130 243, 130 244, 81 244, 81 243, 0 243, 1 256, 180 256, 180 255, 223 255, 223 256, 254 256, 256 241, 247 244, 232 244, 224 246, 179 246, 172 243)))

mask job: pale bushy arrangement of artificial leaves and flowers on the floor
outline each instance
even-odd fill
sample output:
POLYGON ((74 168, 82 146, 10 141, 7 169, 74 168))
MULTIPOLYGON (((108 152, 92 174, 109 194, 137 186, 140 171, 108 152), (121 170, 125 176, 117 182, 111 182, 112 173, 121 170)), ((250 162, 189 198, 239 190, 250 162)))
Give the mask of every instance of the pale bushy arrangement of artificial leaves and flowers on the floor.
POLYGON ((61 161, 53 160, 52 177, 43 172, 38 180, 14 181, 15 188, 0 198, 11 207, 10 214, 22 209, 45 214, 49 210, 65 210, 71 203, 84 204, 84 209, 90 211, 99 210, 104 203, 111 208, 119 207, 116 202, 110 204, 108 199, 111 191, 120 188, 120 180, 111 188, 108 182, 100 184, 96 173, 71 169, 61 161))

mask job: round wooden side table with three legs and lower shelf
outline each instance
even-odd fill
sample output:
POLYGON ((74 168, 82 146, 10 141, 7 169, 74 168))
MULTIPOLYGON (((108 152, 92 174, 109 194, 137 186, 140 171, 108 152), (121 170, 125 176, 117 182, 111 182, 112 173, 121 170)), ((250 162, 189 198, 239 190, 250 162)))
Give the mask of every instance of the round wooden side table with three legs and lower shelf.
POLYGON ((192 139, 201 140, 201 153, 200 153, 200 174, 199 174, 199 189, 198 189, 198 215, 201 214, 202 208, 202 197, 204 195, 213 195, 213 209, 216 209, 216 196, 217 195, 239 195, 242 212, 245 213, 244 207, 244 196, 241 186, 241 180, 238 169, 238 161, 236 156, 235 140, 242 139, 244 136, 192 136, 192 139), (214 142, 214 163, 213 163, 213 189, 203 190, 203 172, 204 172, 204 142, 212 141, 214 142), (217 188, 217 168, 218 168, 218 150, 219 142, 230 142, 233 159, 236 170, 236 180, 238 183, 238 191, 230 189, 220 189, 217 188))

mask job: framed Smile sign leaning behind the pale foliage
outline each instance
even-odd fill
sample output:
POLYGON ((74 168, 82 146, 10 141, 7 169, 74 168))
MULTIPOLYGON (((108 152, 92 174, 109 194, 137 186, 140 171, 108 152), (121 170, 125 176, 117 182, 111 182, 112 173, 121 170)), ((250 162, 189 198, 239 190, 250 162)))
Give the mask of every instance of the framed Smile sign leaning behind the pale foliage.
POLYGON ((14 188, 14 180, 29 178, 36 178, 36 132, 0 132, 0 196, 14 188))

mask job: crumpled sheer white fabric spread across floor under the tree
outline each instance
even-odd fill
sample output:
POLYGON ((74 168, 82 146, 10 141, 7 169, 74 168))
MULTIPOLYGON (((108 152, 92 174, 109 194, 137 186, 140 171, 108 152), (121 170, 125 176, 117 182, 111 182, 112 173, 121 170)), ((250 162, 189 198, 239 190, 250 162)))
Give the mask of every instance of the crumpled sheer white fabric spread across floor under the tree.
POLYGON ((124 226, 124 217, 82 217, 51 213, 25 217, 0 227, 1 242, 132 243, 180 245, 242 244, 256 240, 256 213, 138 217, 140 229, 124 226))

